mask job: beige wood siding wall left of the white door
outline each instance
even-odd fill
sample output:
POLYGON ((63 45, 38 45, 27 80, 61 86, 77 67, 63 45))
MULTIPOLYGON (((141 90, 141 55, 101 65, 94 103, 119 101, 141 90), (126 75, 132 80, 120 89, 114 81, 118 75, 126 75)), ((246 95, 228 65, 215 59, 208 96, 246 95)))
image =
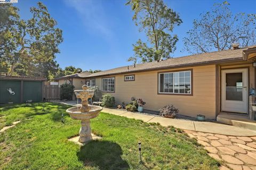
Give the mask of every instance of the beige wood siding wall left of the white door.
MULTIPOLYGON (((207 118, 215 118, 215 64, 209 66, 188 67, 161 71, 147 71, 135 73, 135 81, 125 82, 124 74, 115 77, 116 104, 123 101, 129 103, 132 97, 142 98, 145 109, 156 110, 173 104, 179 108, 180 114, 196 117, 203 114, 207 118), (157 73, 162 71, 175 71, 193 69, 193 96, 157 94, 157 73)), ((101 89, 101 78, 97 77, 96 85, 101 89)))

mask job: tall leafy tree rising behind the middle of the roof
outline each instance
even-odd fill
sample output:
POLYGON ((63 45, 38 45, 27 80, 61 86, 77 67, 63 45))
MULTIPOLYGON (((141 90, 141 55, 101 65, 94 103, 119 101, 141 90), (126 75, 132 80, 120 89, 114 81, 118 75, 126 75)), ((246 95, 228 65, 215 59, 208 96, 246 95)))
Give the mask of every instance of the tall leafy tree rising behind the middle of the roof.
POLYGON ((170 58, 170 53, 175 50, 178 41, 177 35, 171 35, 175 25, 182 23, 179 15, 167 7, 163 0, 129 0, 127 5, 131 5, 134 11, 133 20, 135 25, 140 25, 140 31, 146 32, 148 44, 141 39, 133 44, 134 56, 129 61, 137 62, 139 58, 142 62, 151 62, 170 58))

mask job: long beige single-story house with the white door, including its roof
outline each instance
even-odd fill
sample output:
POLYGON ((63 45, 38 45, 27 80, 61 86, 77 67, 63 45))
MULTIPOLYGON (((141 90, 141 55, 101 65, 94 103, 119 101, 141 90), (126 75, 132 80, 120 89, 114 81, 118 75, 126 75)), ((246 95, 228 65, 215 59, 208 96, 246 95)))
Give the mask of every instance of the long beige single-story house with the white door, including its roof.
MULTIPOLYGON (((256 46, 234 47, 114 68, 88 74, 83 80, 115 96, 117 104, 141 98, 148 110, 173 104, 182 115, 215 119, 222 112, 249 114, 255 60, 256 46)), ((82 84, 78 82, 77 88, 82 84)))

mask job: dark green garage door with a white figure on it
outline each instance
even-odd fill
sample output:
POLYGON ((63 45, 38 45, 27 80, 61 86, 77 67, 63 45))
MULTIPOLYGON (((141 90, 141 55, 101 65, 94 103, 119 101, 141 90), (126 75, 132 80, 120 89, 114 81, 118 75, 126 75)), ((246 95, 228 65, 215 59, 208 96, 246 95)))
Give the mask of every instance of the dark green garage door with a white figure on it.
POLYGON ((20 81, 0 80, 0 103, 20 102, 20 81))

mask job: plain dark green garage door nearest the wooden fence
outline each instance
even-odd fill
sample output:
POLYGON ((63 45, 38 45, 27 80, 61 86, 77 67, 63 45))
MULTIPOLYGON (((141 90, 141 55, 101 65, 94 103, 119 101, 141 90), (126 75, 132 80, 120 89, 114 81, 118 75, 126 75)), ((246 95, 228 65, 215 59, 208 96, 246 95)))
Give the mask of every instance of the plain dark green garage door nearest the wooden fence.
POLYGON ((23 102, 32 100, 33 102, 42 101, 42 82, 23 83, 23 102))

